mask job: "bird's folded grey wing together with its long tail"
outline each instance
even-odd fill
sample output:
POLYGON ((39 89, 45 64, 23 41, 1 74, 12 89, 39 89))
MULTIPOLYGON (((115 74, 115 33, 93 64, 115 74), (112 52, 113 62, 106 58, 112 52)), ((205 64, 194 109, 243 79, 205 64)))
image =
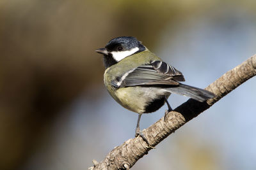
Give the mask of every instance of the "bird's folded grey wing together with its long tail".
POLYGON ((191 97, 197 101, 203 102, 214 97, 212 92, 189 85, 179 83, 185 81, 180 71, 166 62, 157 60, 149 65, 139 66, 116 78, 111 84, 115 88, 131 86, 164 86, 164 89, 170 93, 180 94, 191 97))

